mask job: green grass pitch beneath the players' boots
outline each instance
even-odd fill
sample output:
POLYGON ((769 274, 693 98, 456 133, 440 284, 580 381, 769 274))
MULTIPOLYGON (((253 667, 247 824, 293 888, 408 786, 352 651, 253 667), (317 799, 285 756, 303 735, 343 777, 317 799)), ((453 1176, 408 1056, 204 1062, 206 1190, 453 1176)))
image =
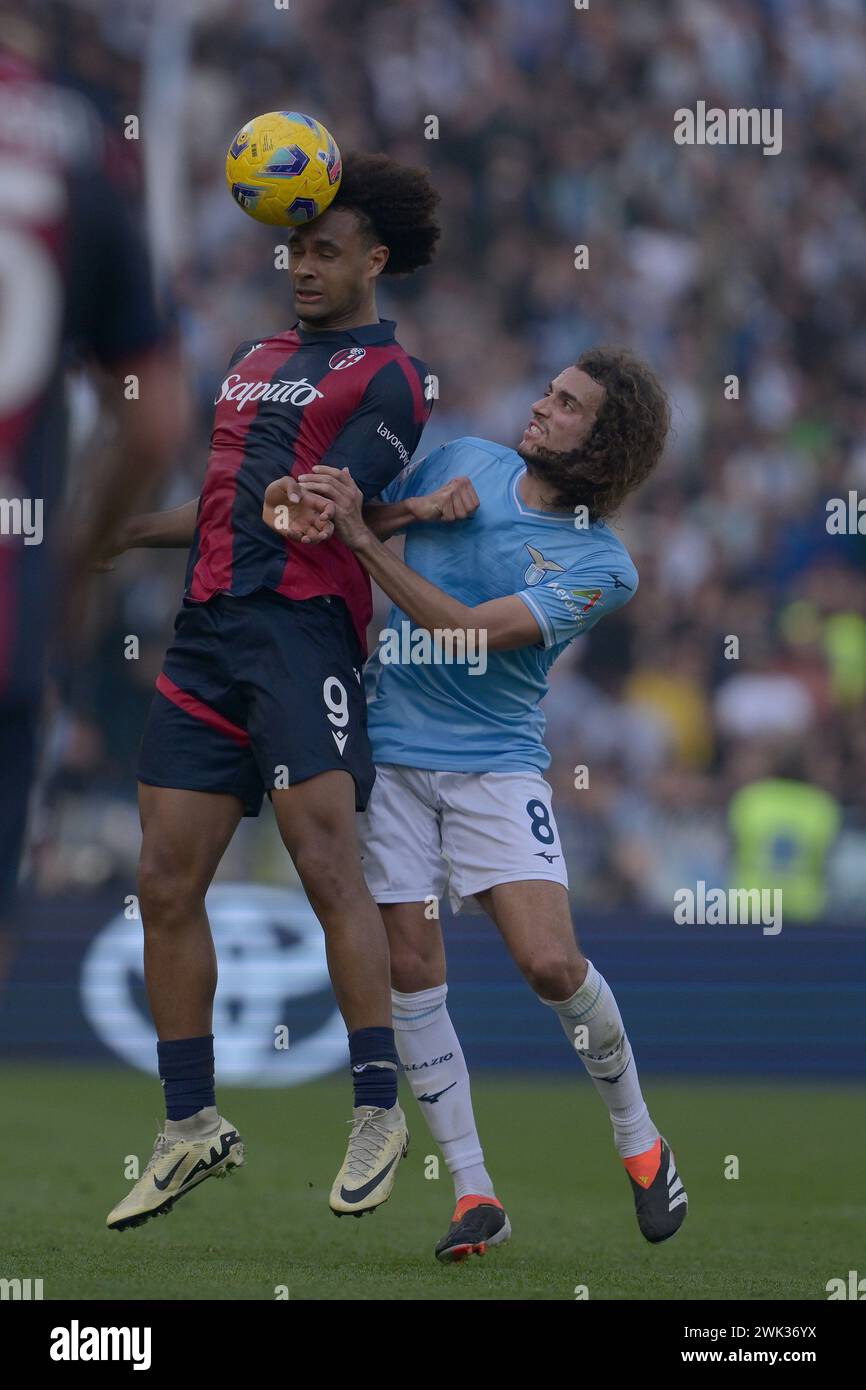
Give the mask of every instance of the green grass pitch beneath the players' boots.
POLYGON ((863 1269, 862 1090, 656 1081, 645 1084, 689 1191, 670 1243, 638 1233, 609 1120, 584 1076, 478 1074, 488 1166, 513 1226, 510 1245, 441 1266, 445 1165, 403 1087, 411 1145, 391 1201, 338 1220, 328 1190, 346 1141, 348 1081, 218 1093, 246 1166, 203 1183, 167 1218, 104 1227, 124 1161, 150 1155, 158 1084, 83 1066, 6 1066, 7 1141, 0 1277, 42 1279, 44 1298, 272 1300, 815 1298, 863 1269), (726 1179, 735 1155, 740 1177, 726 1179))

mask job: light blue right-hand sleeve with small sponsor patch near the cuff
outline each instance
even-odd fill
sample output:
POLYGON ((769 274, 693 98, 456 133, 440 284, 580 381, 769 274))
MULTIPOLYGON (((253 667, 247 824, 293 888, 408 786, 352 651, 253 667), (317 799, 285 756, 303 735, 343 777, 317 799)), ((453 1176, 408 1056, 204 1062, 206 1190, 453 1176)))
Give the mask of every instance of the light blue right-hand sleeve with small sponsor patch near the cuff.
POLYGON ((545 646, 581 637, 607 613, 616 613, 638 587, 628 562, 578 564, 571 570, 528 555, 527 588, 517 594, 538 623, 545 646))

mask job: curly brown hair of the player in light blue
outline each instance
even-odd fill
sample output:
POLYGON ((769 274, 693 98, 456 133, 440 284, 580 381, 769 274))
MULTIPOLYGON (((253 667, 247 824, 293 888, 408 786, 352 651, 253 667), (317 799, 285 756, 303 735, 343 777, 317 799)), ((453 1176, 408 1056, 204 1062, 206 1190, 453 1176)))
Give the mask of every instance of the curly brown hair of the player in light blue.
MULTIPOLYGON (((545 453, 553 506, 612 516, 662 457, 670 403, 655 373, 626 348, 591 348, 574 363, 605 388, 587 439, 571 453, 545 453)), ((541 460, 539 460, 541 461, 541 460)))

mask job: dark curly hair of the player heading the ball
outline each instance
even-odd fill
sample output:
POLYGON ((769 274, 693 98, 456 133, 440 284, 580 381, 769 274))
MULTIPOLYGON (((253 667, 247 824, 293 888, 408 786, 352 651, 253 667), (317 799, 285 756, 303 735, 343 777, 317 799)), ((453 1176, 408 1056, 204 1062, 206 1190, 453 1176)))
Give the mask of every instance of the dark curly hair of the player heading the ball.
POLYGON ((332 207, 350 208, 370 245, 388 247, 384 275, 411 275, 430 265, 439 240, 439 195, 427 170, 388 154, 346 154, 332 207))

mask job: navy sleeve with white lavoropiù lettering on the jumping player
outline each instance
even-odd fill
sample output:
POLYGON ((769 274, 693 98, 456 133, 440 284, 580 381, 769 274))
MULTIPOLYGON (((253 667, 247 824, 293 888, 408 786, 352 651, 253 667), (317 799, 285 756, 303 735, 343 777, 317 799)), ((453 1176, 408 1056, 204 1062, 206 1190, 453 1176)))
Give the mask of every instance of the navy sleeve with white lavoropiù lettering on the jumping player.
POLYGON ((321 461, 349 468, 364 496, 375 498, 409 463, 428 414, 414 366, 407 359, 392 360, 373 377, 321 461))

